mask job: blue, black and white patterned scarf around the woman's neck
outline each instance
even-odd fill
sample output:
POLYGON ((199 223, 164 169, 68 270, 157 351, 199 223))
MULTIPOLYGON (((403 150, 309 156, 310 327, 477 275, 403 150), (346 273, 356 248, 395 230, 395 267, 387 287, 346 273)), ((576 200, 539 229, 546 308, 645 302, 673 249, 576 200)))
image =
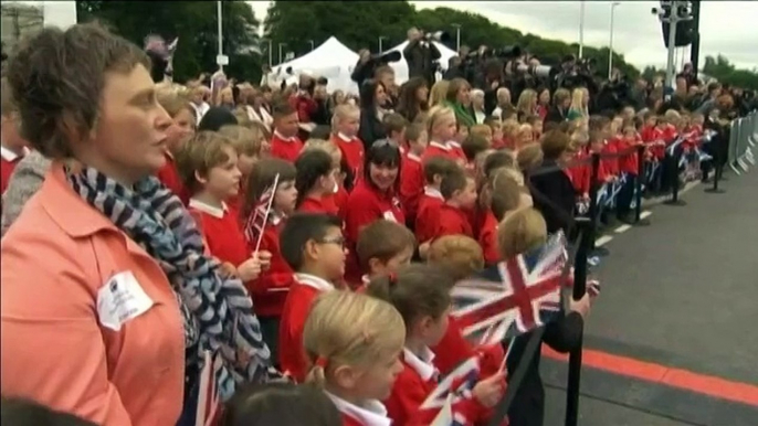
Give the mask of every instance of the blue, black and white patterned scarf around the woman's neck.
MULTIPOLYGON (((266 382, 271 366, 253 302, 238 278, 225 277, 204 255, 202 236, 178 196, 155 177, 128 189, 92 168, 66 170, 73 190, 131 237, 160 265, 178 295, 185 319, 188 371, 200 371, 207 351, 219 353, 219 395, 229 400, 238 383, 266 382)), ((194 377, 190 377, 194 379, 194 377)))

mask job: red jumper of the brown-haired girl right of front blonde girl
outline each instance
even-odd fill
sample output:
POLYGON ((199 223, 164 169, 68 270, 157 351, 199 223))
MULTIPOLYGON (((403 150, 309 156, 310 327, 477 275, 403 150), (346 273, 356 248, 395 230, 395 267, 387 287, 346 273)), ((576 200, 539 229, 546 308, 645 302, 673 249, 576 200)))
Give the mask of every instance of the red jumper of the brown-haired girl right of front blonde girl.
MULTIPOLYGON (((438 385, 439 372, 432 363, 433 359, 434 354, 429 348, 422 356, 403 349, 403 370, 392 385, 390 397, 385 402, 393 425, 430 425, 436 416, 438 412, 434 409, 419 408, 438 385)), ((486 408, 471 396, 454 402, 452 409, 456 420, 465 425, 473 425, 486 413, 486 408)))

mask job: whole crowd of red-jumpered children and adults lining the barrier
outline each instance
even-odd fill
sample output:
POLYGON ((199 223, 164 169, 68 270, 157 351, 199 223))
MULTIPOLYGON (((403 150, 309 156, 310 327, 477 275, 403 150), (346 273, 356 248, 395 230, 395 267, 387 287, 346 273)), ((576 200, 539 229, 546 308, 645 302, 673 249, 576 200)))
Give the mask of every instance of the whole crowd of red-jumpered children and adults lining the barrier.
MULTIPOLYGON (((630 221, 640 161, 650 193, 706 179, 725 156, 703 128, 734 103, 713 84, 687 110, 653 86, 645 108, 597 111, 583 87, 419 73, 377 66, 358 97, 308 75, 180 85, 97 24, 22 43, 2 82, 3 422, 194 425, 212 363, 213 424, 430 425, 438 381, 475 359, 456 422, 485 424, 526 362, 503 424, 541 425, 528 333, 507 360, 467 341, 451 289, 571 235, 594 183, 601 220, 630 221), (622 155, 592 173, 593 152, 622 155)), ((545 342, 581 344, 591 302, 545 342)))

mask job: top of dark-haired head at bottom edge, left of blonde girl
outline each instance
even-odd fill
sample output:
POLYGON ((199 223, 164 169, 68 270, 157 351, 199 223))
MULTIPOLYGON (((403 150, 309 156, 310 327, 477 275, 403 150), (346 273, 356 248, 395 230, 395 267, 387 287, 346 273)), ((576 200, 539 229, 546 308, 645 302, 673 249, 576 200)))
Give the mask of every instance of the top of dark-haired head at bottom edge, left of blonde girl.
POLYGON ((313 385, 272 382, 246 385, 227 403, 222 426, 340 426, 339 411, 313 385))

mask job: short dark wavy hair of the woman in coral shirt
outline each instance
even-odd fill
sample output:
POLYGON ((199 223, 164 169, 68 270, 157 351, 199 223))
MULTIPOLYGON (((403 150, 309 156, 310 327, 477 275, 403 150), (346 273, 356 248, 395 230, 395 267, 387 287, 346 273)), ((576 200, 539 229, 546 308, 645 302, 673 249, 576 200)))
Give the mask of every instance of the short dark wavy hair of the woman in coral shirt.
POLYGON ((95 127, 106 72, 138 65, 150 70, 147 54, 96 22, 48 26, 23 40, 7 70, 21 137, 45 157, 73 157, 66 129, 95 127))

